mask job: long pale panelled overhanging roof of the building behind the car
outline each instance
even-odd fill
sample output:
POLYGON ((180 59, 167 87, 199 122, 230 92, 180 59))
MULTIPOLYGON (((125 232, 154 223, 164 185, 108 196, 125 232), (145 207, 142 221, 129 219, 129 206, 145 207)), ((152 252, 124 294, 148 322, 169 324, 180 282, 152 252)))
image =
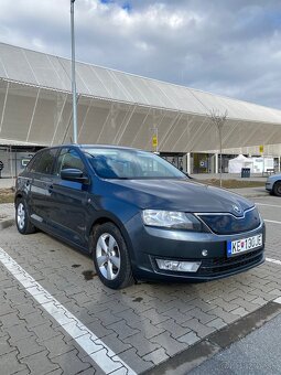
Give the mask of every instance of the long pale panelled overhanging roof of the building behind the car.
MULTIPOLYGON (((156 129, 160 151, 218 149, 216 109, 224 148, 281 143, 281 110, 85 63, 76 74, 80 142, 151 149, 156 129)), ((68 142, 71 89, 71 61, 0 43, 0 143, 68 142)))

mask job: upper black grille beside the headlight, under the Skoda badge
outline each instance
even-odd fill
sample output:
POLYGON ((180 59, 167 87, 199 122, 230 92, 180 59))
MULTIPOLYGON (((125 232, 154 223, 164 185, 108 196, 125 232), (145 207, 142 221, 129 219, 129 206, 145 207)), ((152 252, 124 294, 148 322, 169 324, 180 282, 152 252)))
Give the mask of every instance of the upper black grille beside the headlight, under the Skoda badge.
POLYGON ((246 211, 242 217, 231 214, 199 214, 198 217, 216 234, 230 235, 256 229, 260 225, 258 210, 246 211))

